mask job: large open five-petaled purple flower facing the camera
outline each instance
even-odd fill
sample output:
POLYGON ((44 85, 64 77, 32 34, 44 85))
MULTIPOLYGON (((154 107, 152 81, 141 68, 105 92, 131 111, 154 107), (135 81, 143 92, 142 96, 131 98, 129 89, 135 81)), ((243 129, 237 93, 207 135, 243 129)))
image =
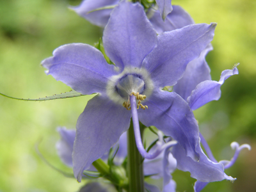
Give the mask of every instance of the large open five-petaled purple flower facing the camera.
POLYGON ((100 51, 86 44, 63 45, 42 61, 46 73, 56 80, 84 95, 98 93, 77 120, 73 151, 77 180, 84 168, 129 128, 131 111, 126 104, 133 92, 140 94, 141 107, 148 106, 138 110, 140 121, 172 136, 188 156, 199 159, 199 131, 193 112, 177 93, 162 88, 177 83, 189 61, 211 42, 215 26, 196 24, 157 36, 141 5, 122 1, 111 13, 103 34, 104 49, 115 65, 109 65, 100 51))

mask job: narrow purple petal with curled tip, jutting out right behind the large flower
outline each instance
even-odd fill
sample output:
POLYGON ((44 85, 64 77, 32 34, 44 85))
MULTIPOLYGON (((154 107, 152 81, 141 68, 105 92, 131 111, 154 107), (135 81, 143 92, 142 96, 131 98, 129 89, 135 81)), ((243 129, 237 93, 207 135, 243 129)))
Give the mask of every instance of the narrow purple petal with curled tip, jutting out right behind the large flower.
POLYGON ((220 99, 220 87, 228 77, 238 74, 236 66, 232 70, 223 70, 220 81, 203 81, 198 84, 188 97, 188 103, 192 110, 198 109, 207 102, 220 99))

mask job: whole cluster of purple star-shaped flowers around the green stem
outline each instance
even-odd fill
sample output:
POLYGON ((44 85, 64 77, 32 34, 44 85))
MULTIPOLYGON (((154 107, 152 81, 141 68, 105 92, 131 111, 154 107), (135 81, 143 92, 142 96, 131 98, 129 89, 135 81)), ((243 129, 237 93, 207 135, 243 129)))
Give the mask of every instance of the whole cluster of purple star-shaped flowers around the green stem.
MULTIPOLYGON (((143 157, 143 173, 152 178, 163 177, 163 191, 175 191, 171 173, 176 168, 191 173, 197 180, 197 192, 208 182, 235 180, 224 169, 234 164, 241 149, 250 146, 232 143, 236 149, 233 159, 216 161, 193 115, 193 110, 220 99, 221 85, 238 74, 235 65, 221 73, 220 81, 211 80, 205 56, 212 50, 216 24, 195 24, 186 11, 172 6, 170 0, 141 4, 83 1, 72 9, 104 27, 104 48, 63 45, 42 61, 47 75, 83 95, 96 93, 79 116, 76 131, 58 129, 58 154, 74 168, 79 182, 88 170, 100 172, 95 162, 101 158, 102 164, 105 161, 111 166, 106 179, 118 189, 131 191, 126 183, 131 178, 127 179, 129 170, 125 171, 129 154, 125 138, 126 131, 133 129, 136 147, 143 157), (158 139, 148 150, 141 140, 141 126, 159 130, 158 139), (118 166, 125 173, 116 180, 118 173, 113 167, 118 166)), ((93 188, 99 188, 97 182, 87 191, 93 188)), ((145 188, 159 191, 147 183, 145 188)))

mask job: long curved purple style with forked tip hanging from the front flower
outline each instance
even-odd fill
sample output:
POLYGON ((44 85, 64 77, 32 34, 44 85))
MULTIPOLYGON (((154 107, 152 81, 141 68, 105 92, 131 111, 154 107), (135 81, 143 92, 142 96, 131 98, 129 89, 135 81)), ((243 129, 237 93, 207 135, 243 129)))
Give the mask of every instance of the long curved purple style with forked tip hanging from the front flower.
POLYGON ((168 143, 164 143, 163 135, 161 134, 161 132, 158 132, 159 141, 157 141, 157 143, 156 143, 156 150, 150 154, 145 150, 145 148, 143 147, 143 144, 141 141, 141 135, 140 135, 138 111, 136 110, 136 107, 137 107, 136 95, 131 94, 130 98, 131 98, 131 111, 132 111, 132 123, 133 123, 133 128, 134 128, 134 136, 135 136, 137 148, 138 148, 141 156, 146 159, 154 159, 155 157, 159 156, 159 154, 161 154, 161 152, 163 152, 163 150, 165 148, 172 147, 173 145, 176 145, 177 141, 170 141, 168 143))

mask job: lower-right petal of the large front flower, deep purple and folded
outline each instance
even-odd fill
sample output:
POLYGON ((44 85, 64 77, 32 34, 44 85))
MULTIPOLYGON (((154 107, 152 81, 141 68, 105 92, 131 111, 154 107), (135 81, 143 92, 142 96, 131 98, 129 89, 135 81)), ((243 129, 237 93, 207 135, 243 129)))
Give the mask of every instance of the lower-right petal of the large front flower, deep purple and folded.
POLYGON ((139 109, 138 115, 142 124, 153 125, 167 136, 171 136, 185 148, 189 157, 199 159, 195 151, 198 145, 199 129, 188 103, 179 95, 162 90, 154 91, 143 102, 148 109, 139 109))

